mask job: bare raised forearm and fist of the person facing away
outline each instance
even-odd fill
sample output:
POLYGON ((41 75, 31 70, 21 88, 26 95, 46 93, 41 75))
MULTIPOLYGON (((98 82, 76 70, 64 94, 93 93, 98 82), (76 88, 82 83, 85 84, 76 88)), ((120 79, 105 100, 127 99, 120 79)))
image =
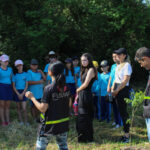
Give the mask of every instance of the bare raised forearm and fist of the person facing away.
POLYGON ((27 98, 29 98, 29 99, 34 103, 35 107, 36 107, 40 112, 45 113, 46 110, 48 109, 48 104, 47 104, 47 103, 40 103, 40 102, 38 102, 38 101, 35 99, 34 95, 33 95, 31 92, 29 92, 29 91, 26 92, 25 96, 26 96, 27 98))

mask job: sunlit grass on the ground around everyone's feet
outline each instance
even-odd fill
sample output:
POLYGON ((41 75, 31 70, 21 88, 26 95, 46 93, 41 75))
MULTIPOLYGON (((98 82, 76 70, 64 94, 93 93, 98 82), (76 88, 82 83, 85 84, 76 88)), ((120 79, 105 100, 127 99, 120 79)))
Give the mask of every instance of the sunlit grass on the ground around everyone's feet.
MULTIPOLYGON (((28 108, 29 110, 29 108, 28 108)), ((8 127, 0 127, 0 150, 34 150, 38 125, 33 121, 29 111, 30 126, 21 126, 17 121, 16 105, 11 105, 12 123, 8 127)), ((150 150, 147 139, 145 121, 142 117, 142 106, 137 112, 133 128, 131 129, 132 141, 129 144, 118 142, 122 129, 112 130, 112 122, 98 122, 94 120, 94 139, 90 144, 79 144, 75 129, 75 118, 71 118, 68 134, 70 150, 150 150)), ((55 139, 52 138, 47 149, 57 150, 55 139)))

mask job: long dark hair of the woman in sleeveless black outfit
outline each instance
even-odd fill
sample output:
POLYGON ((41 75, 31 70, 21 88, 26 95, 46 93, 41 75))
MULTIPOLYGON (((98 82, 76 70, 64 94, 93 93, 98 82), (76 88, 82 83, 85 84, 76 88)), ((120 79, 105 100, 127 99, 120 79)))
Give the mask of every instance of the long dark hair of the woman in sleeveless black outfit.
POLYGON ((93 65, 93 58, 92 58, 91 54, 84 53, 81 57, 83 57, 83 56, 87 58, 89 64, 88 64, 87 67, 84 67, 84 66, 82 66, 82 62, 81 62, 81 79, 82 79, 82 76, 85 73, 86 69, 93 68, 94 69, 94 73, 95 73, 95 80, 97 80, 97 69, 93 65))

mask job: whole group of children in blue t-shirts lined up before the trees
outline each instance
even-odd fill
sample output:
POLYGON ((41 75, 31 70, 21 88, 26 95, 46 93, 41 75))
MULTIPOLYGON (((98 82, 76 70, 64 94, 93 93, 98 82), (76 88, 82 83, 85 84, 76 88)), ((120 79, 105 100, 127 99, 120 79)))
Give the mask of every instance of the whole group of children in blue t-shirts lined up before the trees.
MULTIPOLYGON (((9 56, 3 54, 0 57, 0 117, 2 126, 7 126, 10 123, 9 106, 10 101, 14 100, 17 103, 18 116, 20 124, 28 125, 27 117, 27 98, 26 91, 31 91, 35 98, 40 102, 43 96, 44 86, 51 83, 51 77, 48 75, 48 67, 54 62, 57 62, 57 55, 54 51, 49 52, 49 63, 45 66, 44 72, 38 68, 38 61, 32 59, 30 62, 30 69, 25 71, 24 63, 18 59, 14 62, 14 69, 9 67, 9 56), (23 119, 24 118, 24 119, 23 119)), ((97 61, 93 61, 94 66, 99 70, 97 61)), ((107 100, 108 83, 110 76, 114 72, 114 65, 109 72, 109 64, 107 60, 100 63, 102 73, 98 72, 98 80, 93 83, 92 93, 94 97, 94 118, 99 121, 106 120, 110 122, 111 119, 111 103, 107 100)), ((78 57, 67 58, 65 60, 64 75, 67 86, 71 91, 72 103, 76 96, 76 88, 81 85, 80 80, 80 66, 78 57)), ((39 111, 34 106, 32 101, 29 102, 31 106, 31 114, 33 118, 39 121, 39 111)), ((114 109, 115 106, 113 106, 114 109)), ((118 114, 117 114, 118 115, 118 114)), ((117 121, 114 125, 118 124, 117 121)), ((117 126, 119 127, 119 126, 117 126)))

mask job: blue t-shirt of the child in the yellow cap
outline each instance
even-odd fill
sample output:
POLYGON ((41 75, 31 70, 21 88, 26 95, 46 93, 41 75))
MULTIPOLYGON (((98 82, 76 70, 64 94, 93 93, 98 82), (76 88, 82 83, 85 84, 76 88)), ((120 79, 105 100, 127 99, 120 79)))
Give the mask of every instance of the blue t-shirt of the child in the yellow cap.
POLYGON ((97 73, 98 79, 94 81, 92 85, 92 93, 95 93, 96 96, 100 95, 100 84, 101 84, 101 75, 98 72, 97 73))

